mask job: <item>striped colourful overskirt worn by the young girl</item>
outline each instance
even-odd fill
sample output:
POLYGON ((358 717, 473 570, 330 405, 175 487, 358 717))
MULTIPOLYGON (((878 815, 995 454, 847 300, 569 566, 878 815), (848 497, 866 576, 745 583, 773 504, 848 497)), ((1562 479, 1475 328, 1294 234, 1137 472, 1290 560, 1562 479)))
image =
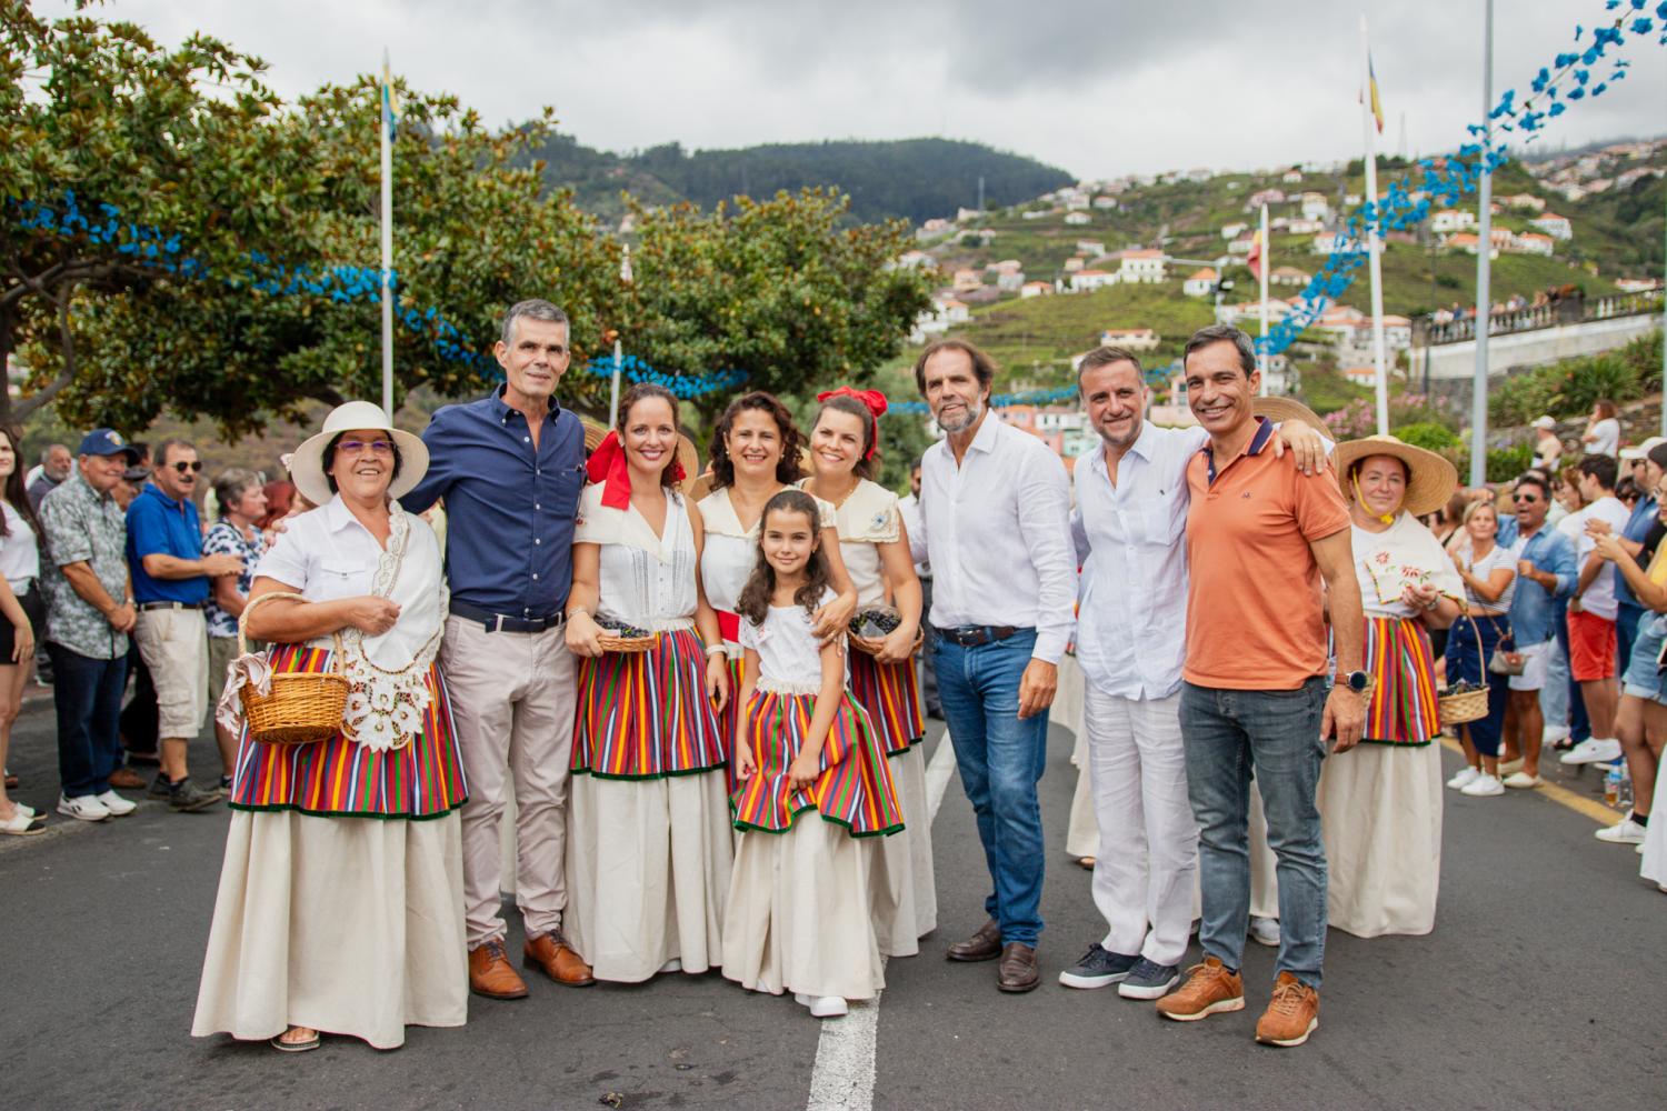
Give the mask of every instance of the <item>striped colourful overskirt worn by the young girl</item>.
POLYGON ((904 808, 897 801, 892 768, 869 725, 869 715, 847 691, 822 743, 820 775, 803 791, 793 791, 787 768, 803 748, 815 695, 753 691, 742 708, 740 730, 752 748, 757 771, 730 795, 737 830, 785 833, 793 818, 817 810, 823 821, 845 826, 854 838, 897 833, 904 808))

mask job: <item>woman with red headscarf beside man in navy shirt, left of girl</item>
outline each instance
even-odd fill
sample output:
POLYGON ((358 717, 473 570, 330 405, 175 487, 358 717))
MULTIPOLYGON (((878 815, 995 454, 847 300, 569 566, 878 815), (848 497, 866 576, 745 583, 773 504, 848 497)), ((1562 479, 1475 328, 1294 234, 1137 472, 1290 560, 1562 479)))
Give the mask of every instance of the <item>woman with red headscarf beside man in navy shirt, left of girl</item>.
POLYGON ((638 383, 590 456, 567 646, 580 656, 568 941, 597 979, 723 961, 732 834, 718 711, 728 668, 700 583, 705 525, 678 491, 677 398, 638 383), (648 640, 608 651, 603 636, 648 640))

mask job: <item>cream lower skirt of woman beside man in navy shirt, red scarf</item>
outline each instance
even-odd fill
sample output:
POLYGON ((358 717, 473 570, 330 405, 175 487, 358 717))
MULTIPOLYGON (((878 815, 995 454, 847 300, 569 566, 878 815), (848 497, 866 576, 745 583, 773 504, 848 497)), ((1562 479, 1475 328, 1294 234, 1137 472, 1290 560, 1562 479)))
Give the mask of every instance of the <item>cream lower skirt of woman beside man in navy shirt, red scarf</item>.
POLYGON ((723 959, 732 834, 723 770, 660 780, 575 775, 567 811, 568 943, 597 979, 723 959))

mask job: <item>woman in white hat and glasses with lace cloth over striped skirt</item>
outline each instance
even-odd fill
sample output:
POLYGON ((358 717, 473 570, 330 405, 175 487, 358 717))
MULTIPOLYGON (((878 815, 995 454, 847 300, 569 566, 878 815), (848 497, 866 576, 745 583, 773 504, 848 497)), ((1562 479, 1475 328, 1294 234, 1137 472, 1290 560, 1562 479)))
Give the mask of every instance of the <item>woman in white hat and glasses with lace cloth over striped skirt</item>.
MULTIPOLYGON (((463 1024, 467 791, 433 665, 445 583, 433 531, 395 500, 427 468, 422 440, 368 401, 332 411, 290 463, 318 508, 255 568, 245 631, 272 641, 270 671, 338 666, 352 690, 328 740, 238 741, 197 1036, 392 1049, 410 1024, 463 1024)), ((222 713, 265 670, 235 666, 222 713)))

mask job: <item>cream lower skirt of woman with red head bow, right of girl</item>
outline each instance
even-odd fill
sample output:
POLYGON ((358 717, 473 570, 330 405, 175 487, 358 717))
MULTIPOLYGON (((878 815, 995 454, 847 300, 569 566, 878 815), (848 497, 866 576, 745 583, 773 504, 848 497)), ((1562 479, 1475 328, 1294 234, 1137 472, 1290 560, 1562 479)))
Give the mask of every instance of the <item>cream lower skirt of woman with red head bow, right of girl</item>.
POLYGON ((869 861, 869 901, 874 934, 887 956, 915 956, 920 938, 937 929, 937 878, 932 871, 932 818, 927 815, 927 756, 924 745, 889 756, 904 831, 864 838, 869 861))

